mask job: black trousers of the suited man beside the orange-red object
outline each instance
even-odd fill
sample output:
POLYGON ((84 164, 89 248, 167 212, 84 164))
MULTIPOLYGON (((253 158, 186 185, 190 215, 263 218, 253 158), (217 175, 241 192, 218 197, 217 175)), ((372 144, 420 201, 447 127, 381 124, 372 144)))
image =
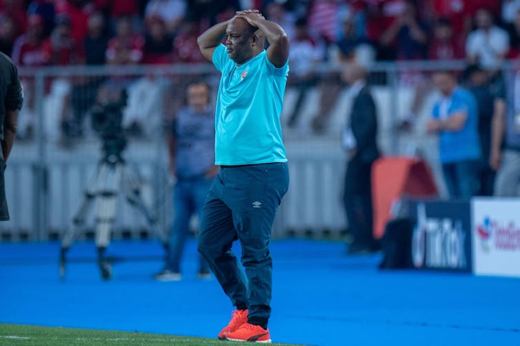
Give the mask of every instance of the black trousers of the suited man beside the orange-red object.
POLYGON ((372 162, 363 162, 354 156, 348 162, 345 174, 343 203, 348 219, 348 229, 354 237, 351 248, 371 249, 372 237, 372 162))

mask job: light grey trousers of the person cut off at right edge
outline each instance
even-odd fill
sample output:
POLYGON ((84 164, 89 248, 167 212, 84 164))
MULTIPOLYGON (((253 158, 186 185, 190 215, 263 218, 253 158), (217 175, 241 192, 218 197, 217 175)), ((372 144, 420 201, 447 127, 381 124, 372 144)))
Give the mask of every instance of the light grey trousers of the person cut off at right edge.
POLYGON ((494 182, 494 196, 517 197, 520 185, 520 151, 503 152, 502 164, 494 182))

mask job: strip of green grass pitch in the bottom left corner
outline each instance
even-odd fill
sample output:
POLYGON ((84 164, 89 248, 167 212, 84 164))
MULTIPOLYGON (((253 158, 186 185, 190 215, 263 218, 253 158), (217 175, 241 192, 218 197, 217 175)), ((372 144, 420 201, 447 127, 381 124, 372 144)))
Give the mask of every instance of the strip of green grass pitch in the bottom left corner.
MULTIPOLYGON (((35 327, 32 325, 0 324, 0 345, 75 346, 75 345, 197 345, 226 346, 244 343, 221 341, 217 338, 194 338, 139 332, 35 327)), ((250 343, 248 343, 249 345, 250 343)), ((270 345, 288 345, 272 343, 270 345)))

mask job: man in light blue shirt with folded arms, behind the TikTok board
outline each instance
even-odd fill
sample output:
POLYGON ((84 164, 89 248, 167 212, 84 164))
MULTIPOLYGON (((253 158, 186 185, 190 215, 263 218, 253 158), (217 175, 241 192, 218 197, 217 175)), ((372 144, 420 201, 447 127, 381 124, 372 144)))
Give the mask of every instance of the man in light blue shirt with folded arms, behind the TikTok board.
POLYGON ((433 81, 441 100, 434 104, 426 129, 439 135, 439 158, 449 197, 469 199, 477 192, 481 158, 477 101, 457 85, 452 72, 435 72, 433 81))

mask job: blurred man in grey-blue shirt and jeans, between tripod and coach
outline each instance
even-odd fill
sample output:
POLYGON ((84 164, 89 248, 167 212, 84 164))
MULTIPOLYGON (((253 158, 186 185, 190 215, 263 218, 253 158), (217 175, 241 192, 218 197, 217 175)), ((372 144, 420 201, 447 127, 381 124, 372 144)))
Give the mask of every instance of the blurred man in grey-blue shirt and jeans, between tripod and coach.
MULTIPOLYGON (((167 133, 170 173, 176 177, 173 191, 173 224, 170 230, 168 257, 163 270, 155 275, 159 281, 179 281, 181 259, 190 233, 192 215, 201 220, 202 208, 215 175, 214 109, 210 103, 210 87, 201 80, 188 85, 188 105, 179 109, 167 133)), ((199 254, 197 277, 210 278, 206 260, 199 254)))

